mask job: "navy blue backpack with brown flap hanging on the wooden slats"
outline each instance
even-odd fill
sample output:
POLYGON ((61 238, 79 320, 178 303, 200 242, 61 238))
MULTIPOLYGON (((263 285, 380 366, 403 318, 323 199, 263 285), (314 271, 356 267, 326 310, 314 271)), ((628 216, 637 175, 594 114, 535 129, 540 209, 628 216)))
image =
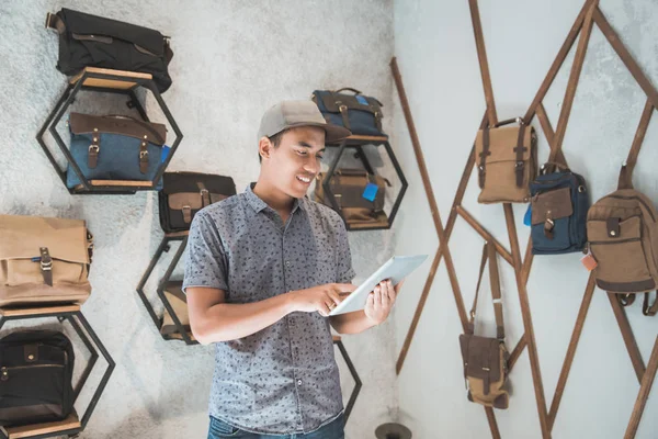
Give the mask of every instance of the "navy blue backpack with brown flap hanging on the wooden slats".
POLYGON ((530 184, 533 255, 581 251, 587 244, 590 201, 585 179, 558 167, 544 165, 530 184))

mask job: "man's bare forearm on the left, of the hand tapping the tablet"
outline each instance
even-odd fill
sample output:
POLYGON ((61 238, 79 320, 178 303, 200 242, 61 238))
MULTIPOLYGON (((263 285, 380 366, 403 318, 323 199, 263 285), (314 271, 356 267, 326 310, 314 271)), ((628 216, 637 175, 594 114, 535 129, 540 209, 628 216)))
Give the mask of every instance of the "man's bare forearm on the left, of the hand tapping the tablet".
POLYGON ((290 294, 245 304, 218 303, 192 322, 192 330, 204 345, 237 340, 275 324, 292 311, 290 294))

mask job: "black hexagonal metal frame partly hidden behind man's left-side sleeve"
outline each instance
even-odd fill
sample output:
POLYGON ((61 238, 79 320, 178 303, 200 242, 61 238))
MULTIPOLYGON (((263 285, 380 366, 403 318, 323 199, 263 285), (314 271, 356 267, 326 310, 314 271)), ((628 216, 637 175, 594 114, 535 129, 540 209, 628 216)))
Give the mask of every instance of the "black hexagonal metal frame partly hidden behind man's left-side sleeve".
MULTIPOLYGON (((150 278, 151 273, 154 272, 156 264, 162 257, 162 254, 166 251, 169 251, 171 249, 171 246, 169 245, 169 243, 175 241, 175 240, 180 240, 181 244, 179 245, 179 248, 178 248, 175 255, 173 256, 173 259, 169 263, 169 267, 167 268, 167 272, 164 273, 164 275, 162 277, 160 282, 158 283, 157 293, 158 293, 158 297, 160 297, 160 301, 162 301, 164 308, 171 316, 171 319, 173 320, 173 323, 177 327, 178 334, 180 334, 182 340, 185 341, 185 345, 198 345, 198 341, 193 340, 190 337, 190 335, 188 334, 188 330, 185 330, 185 328, 183 327, 183 324, 179 319, 178 315, 174 313, 173 307, 171 306, 171 303, 164 295, 164 286, 167 285, 167 282, 169 282, 169 278, 171 278, 171 273, 173 273, 173 270, 175 270, 178 262, 180 261, 181 257, 183 256, 183 251, 185 251, 185 246, 188 245, 188 235, 179 235, 179 234, 164 235, 164 237, 162 238, 162 241, 160 243, 160 246, 158 247, 158 249, 156 250, 156 254, 151 258, 148 268, 144 272, 144 275, 141 275, 141 280, 139 280, 136 291, 137 291, 137 294, 139 294, 139 299, 141 299, 141 302, 144 303, 146 311, 148 312, 151 319, 154 320, 154 324, 156 325, 158 333, 160 333, 160 328, 162 327, 162 317, 158 317, 158 315, 156 314, 156 311, 154 309, 152 305, 150 304, 150 302, 146 297, 146 294, 144 293, 144 286, 146 285, 148 278, 150 278)), ((166 340, 179 340, 179 338, 172 337, 167 334, 160 333, 160 336, 166 340)))

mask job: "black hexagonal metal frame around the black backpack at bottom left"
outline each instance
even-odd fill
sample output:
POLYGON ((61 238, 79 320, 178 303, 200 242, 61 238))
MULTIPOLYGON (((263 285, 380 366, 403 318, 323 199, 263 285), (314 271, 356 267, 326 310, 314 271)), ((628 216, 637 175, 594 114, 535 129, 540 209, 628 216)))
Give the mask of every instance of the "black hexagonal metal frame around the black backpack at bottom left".
MULTIPOLYGON (((84 371, 82 372, 82 375, 80 376, 80 380, 78 381, 78 384, 76 384, 76 389, 73 390, 73 403, 78 399, 78 395, 80 394, 80 391, 87 383, 87 380, 89 379, 89 375, 91 374, 91 371, 92 371, 93 367, 95 365, 97 360, 99 359, 99 353, 95 350, 93 345, 97 346, 97 348, 101 351, 101 354, 105 358, 105 361, 107 362, 107 369, 105 370, 105 373, 103 374, 103 378, 101 379, 101 382, 99 383, 99 387, 97 389, 91 401, 89 402, 89 406, 87 407, 87 409, 84 410, 84 414, 82 415, 82 418, 80 419, 80 428, 54 431, 52 434, 23 436, 26 439, 52 438, 55 436, 73 436, 73 435, 78 435, 79 432, 83 431, 84 428, 87 427, 87 423, 89 421, 89 418, 91 417, 93 410, 95 409, 95 406, 97 406, 103 391, 105 390, 105 385, 107 384, 107 381, 110 381, 110 376, 112 375, 112 372, 114 371, 114 367, 115 367, 115 362, 112 359, 112 357, 110 356, 110 352, 107 352, 107 350, 105 349, 105 347, 103 346, 103 344, 101 342, 101 340, 99 339, 99 337, 97 336, 97 334, 94 333, 92 327, 89 325, 89 322, 87 322, 87 318, 84 318, 84 315, 82 315, 81 311, 53 312, 53 313, 47 313, 47 314, 34 314, 34 315, 0 316, 0 329, 2 328, 4 323, 9 322, 9 320, 20 320, 20 319, 27 319, 27 318, 44 318, 44 317, 57 317, 59 323, 64 323, 64 322, 68 320, 71 324, 71 326, 73 327, 73 329, 76 330, 76 333, 78 334, 78 336, 80 337, 80 339, 82 340, 82 342, 84 344, 84 346, 87 347, 87 349, 89 349, 89 351, 91 352, 91 358, 89 359, 89 363, 84 368, 84 371), (76 318, 79 320, 79 324, 78 324, 78 322, 76 322, 76 318), (80 327, 80 325, 82 327, 80 327), (82 330, 82 328, 84 328, 84 330, 82 330), (84 334, 84 331, 87 331, 87 334, 84 334), (89 337, 87 335, 89 335, 89 337), (93 341, 93 345, 89 338, 91 338, 91 341, 93 341)), ((7 436, 1 430, 0 430, 0 438, 7 439, 7 436)))

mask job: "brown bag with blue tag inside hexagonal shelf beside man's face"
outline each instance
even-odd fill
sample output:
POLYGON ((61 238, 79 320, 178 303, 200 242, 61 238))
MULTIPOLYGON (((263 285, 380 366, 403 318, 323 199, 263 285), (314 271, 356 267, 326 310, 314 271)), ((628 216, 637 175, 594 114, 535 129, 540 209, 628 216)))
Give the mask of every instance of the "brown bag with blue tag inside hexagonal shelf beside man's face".
MULTIPOLYGON (((316 179, 315 201, 332 209, 329 198, 325 194, 324 182, 327 178, 320 172, 316 179)), ((329 182, 338 209, 349 224, 375 224, 387 222, 384 214, 384 202, 388 181, 379 176, 367 173, 365 169, 338 169, 329 182), (377 193, 373 201, 363 198, 365 187, 370 183, 377 185, 377 193)))

